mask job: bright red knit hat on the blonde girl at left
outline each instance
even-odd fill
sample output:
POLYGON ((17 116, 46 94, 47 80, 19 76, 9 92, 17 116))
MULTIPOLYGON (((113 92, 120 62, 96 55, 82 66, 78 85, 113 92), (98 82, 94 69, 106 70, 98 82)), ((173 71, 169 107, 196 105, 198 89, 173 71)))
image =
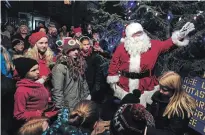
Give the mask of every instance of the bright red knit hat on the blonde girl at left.
POLYGON ((38 40, 40 40, 42 37, 47 37, 46 33, 44 32, 36 32, 36 33, 33 33, 30 37, 29 37, 29 43, 31 44, 31 46, 34 46, 36 44, 36 42, 38 40))

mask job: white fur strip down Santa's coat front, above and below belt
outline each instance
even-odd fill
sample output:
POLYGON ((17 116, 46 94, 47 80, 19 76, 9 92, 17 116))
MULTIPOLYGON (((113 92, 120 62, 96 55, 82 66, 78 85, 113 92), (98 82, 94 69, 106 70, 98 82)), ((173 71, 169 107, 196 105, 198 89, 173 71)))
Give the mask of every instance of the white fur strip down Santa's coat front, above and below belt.
MULTIPOLYGON (((130 56, 129 72, 140 72, 140 54, 130 56)), ((129 92, 139 88, 139 79, 129 79, 129 92)))

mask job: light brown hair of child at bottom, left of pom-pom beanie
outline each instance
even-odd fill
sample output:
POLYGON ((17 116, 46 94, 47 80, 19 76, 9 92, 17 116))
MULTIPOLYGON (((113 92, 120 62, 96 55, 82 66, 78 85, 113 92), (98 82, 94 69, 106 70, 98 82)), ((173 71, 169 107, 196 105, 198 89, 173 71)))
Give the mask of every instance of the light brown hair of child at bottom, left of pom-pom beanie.
POLYGON ((99 108, 90 100, 83 100, 76 104, 70 114, 69 123, 76 127, 93 130, 94 124, 99 120, 99 108))

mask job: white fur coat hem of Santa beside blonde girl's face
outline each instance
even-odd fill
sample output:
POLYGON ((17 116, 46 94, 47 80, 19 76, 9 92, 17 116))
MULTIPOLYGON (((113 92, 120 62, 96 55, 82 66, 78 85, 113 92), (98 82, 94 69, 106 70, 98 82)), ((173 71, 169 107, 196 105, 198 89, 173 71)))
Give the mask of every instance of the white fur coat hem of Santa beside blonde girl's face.
POLYGON ((140 97, 140 104, 142 104, 145 108, 147 104, 152 104, 152 95, 159 90, 159 85, 155 86, 152 91, 144 91, 144 93, 140 97))

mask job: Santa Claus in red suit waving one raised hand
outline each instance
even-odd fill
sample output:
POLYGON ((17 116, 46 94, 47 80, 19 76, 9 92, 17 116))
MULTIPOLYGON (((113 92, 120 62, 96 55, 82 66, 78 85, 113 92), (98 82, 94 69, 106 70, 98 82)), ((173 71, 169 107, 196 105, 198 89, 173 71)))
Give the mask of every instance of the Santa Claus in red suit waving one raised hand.
POLYGON ((114 90, 114 96, 122 99, 134 89, 139 89, 143 93, 140 103, 146 106, 147 100, 158 90, 158 81, 153 74, 158 56, 174 45, 188 45, 187 35, 194 29, 194 24, 188 22, 171 38, 159 41, 151 40, 141 24, 129 24, 124 43, 114 52, 108 70, 107 82, 114 90))

